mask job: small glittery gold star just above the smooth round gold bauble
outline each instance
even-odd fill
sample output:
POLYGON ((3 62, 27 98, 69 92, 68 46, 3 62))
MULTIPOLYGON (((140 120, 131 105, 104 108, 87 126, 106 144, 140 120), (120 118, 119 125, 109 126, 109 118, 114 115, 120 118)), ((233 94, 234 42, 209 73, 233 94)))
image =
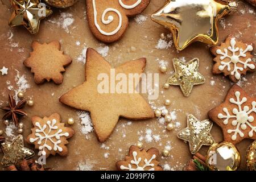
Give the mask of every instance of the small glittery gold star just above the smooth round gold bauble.
POLYGON ((189 149, 191 154, 196 154, 203 145, 211 145, 214 143, 210 130, 212 129, 212 122, 209 119, 199 121, 192 114, 188 115, 187 127, 179 133, 177 137, 189 142, 189 149))

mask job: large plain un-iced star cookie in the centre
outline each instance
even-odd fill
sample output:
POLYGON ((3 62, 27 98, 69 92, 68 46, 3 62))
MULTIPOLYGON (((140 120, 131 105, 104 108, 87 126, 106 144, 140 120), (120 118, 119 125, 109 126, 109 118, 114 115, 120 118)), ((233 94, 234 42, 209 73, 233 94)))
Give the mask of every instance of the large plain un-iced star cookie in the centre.
POLYGON ((126 62, 112 69, 110 64, 98 52, 88 48, 85 65, 86 81, 61 96, 60 102, 76 109, 90 111, 98 140, 104 142, 114 130, 119 117, 129 119, 154 117, 154 112, 148 103, 139 93, 135 92, 135 85, 138 82, 133 84, 133 88, 129 88, 133 93, 118 93, 117 90, 113 90, 111 81, 103 79, 112 79, 113 74, 114 77, 117 75, 128 77, 129 73, 138 73, 140 75, 145 65, 146 59, 141 58, 126 62), (118 73, 121 73, 121 75, 118 73), (108 86, 104 88, 102 82, 105 82, 108 86))

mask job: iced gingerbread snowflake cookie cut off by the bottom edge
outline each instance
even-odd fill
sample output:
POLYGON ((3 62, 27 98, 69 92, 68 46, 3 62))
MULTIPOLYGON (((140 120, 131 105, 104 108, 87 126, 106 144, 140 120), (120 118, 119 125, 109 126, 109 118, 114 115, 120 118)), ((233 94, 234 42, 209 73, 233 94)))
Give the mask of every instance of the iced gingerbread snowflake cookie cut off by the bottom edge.
POLYGON ((140 150, 137 146, 131 146, 129 155, 125 156, 125 160, 116 163, 119 171, 163 171, 157 160, 159 151, 156 148, 149 150, 140 150))

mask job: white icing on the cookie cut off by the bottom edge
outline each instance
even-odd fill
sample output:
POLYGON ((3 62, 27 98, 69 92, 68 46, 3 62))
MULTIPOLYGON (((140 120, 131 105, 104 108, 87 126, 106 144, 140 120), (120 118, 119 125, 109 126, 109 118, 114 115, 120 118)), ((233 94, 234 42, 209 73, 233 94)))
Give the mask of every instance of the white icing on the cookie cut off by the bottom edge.
POLYGON ((148 169, 148 171, 155 171, 154 164, 151 164, 151 161, 156 158, 156 155, 152 155, 150 160, 144 159, 144 166, 139 166, 139 163, 141 162, 141 158, 138 158, 137 160, 137 152, 133 151, 133 160, 131 160, 131 164, 135 164, 137 168, 132 168, 131 164, 128 164, 128 167, 125 167, 123 165, 120 166, 120 169, 128 169, 129 171, 144 171, 144 168, 151 166, 152 168, 148 169))

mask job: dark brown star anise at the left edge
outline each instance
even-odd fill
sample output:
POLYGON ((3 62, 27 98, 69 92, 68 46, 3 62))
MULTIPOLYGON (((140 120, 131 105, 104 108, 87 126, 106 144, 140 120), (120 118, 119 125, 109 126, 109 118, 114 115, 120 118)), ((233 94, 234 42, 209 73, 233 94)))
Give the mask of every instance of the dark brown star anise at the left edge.
POLYGON ((18 126, 19 117, 27 116, 27 113, 25 113, 22 110, 22 107, 25 104, 26 104, 26 100, 19 101, 18 104, 16 104, 16 101, 14 100, 13 96, 9 95, 9 106, 1 107, 2 110, 6 111, 6 113, 3 115, 3 119, 11 118, 13 119, 15 126, 18 126))

